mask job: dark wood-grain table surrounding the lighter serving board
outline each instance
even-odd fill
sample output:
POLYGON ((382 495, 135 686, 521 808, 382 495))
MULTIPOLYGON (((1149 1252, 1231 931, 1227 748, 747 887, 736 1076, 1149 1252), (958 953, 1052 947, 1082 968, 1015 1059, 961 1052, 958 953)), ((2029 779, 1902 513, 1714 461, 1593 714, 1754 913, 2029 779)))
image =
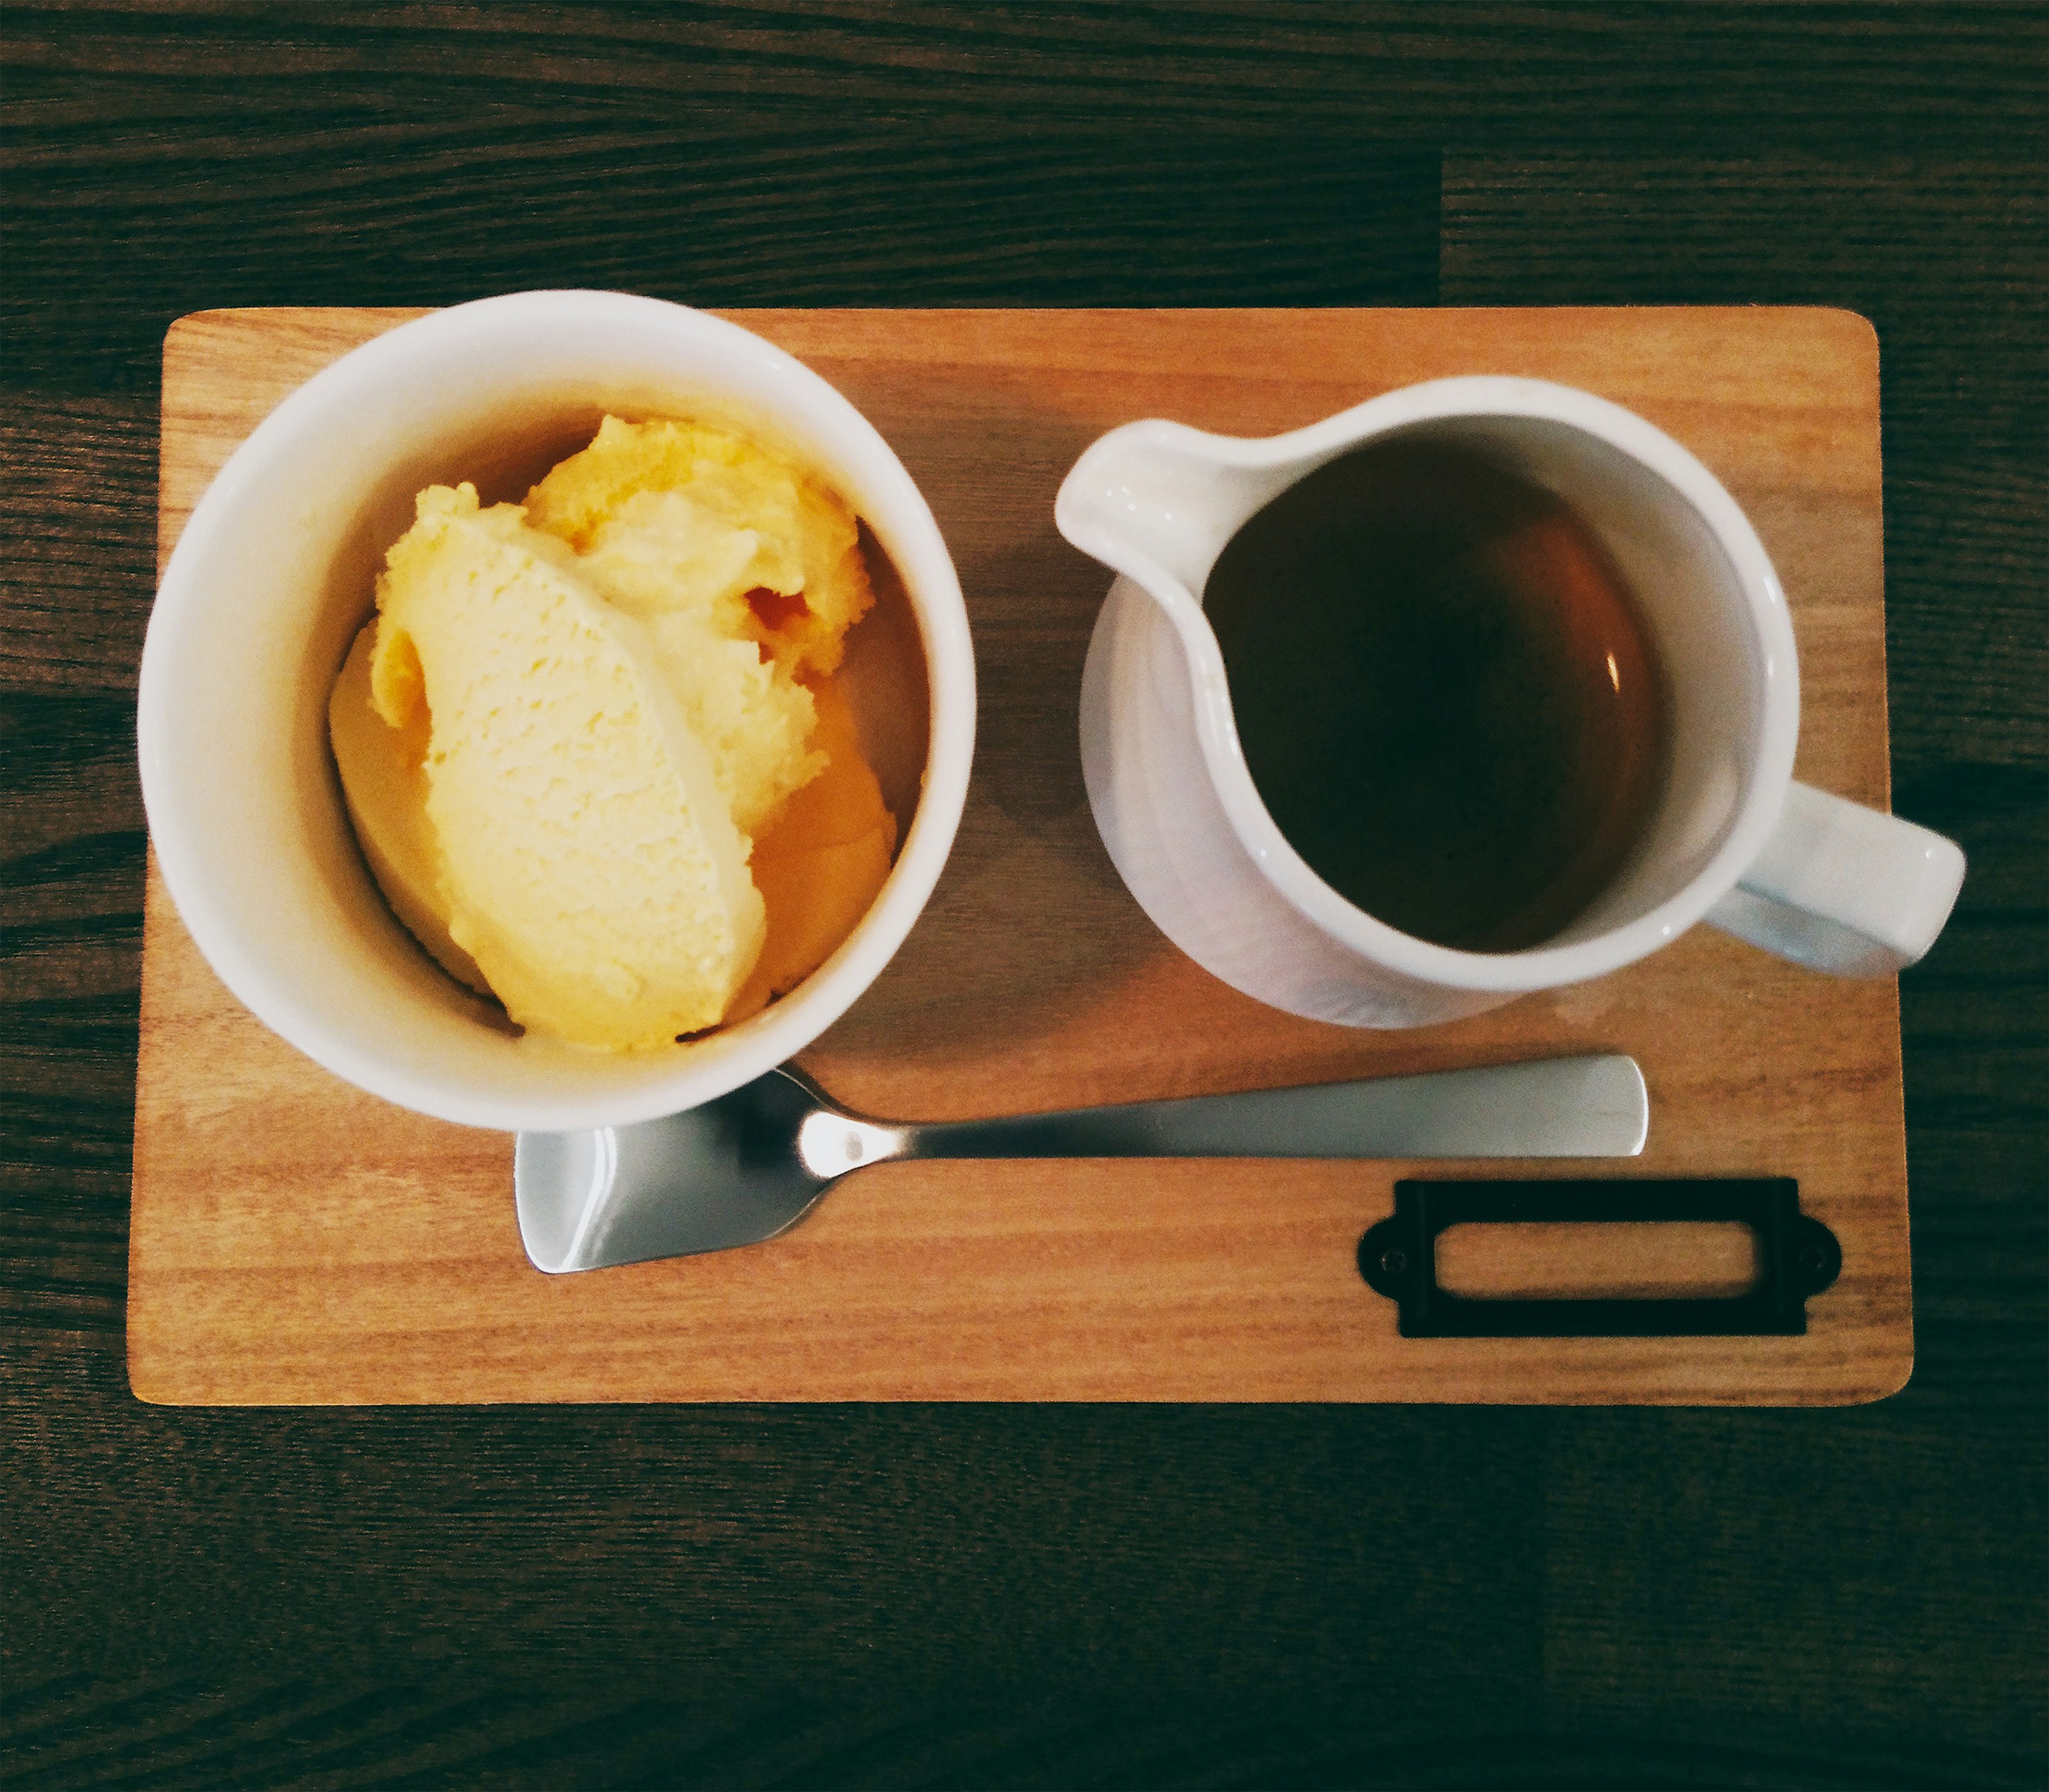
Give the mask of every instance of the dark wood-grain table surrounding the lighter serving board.
POLYGON ((0 1782, 2043 1782, 2041 6, 16 0, 0 43, 0 1782), (1901 989, 1906 1393, 137 1405, 164 328, 541 285, 1871 315, 1895 807, 1971 854, 1901 989))

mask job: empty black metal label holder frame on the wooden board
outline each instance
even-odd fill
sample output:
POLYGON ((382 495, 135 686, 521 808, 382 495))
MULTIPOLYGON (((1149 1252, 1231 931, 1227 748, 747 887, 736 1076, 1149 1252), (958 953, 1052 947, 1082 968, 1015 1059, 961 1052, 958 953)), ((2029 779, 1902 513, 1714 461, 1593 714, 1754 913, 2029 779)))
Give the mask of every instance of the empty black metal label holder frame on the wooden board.
POLYGON ((1397 1303, 1404 1337, 1801 1337, 1807 1296, 1842 1272, 1842 1247, 1799 1210, 1791 1176, 1680 1182, 1397 1182, 1395 1210, 1358 1241, 1358 1274, 1397 1303), (1699 1298, 1475 1298, 1436 1284, 1436 1239, 1455 1225, 1748 1225, 1758 1280, 1699 1298))

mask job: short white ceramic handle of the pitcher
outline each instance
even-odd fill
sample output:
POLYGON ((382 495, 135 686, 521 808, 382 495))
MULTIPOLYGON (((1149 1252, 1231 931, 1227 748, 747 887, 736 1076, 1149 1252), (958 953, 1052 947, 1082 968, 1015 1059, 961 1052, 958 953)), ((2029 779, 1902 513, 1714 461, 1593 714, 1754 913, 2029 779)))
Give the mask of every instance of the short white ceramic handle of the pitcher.
POLYGON ((1707 920, 1752 946, 1832 971, 1891 977, 1934 944, 1963 887, 1963 848, 1809 784, 1707 920))

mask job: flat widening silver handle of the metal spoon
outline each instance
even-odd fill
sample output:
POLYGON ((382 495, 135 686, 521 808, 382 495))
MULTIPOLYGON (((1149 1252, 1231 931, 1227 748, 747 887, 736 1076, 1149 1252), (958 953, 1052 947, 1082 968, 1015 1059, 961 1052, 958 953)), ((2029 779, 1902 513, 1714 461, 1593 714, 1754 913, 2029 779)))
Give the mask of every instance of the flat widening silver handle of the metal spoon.
POLYGON ((1631 1057, 1537 1059, 1180 1102, 906 1126, 900 1157, 1635 1157, 1631 1057))

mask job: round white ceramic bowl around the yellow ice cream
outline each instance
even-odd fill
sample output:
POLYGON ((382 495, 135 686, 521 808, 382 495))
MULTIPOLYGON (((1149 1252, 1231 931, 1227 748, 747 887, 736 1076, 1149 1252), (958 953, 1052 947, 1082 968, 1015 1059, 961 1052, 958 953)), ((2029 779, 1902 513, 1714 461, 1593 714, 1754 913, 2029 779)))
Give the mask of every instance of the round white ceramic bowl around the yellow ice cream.
POLYGON ((932 893, 967 797, 973 731, 961 586, 889 444, 781 348, 623 293, 514 293, 436 311, 287 397, 221 469, 170 557, 137 711, 158 864, 221 981, 336 1075, 504 1130, 674 1114, 809 1044, 875 981, 932 893), (363 866, 326 723, 328 688, 414 494, 471 479, 486 502, 516 498, 607 410, 746 430, 852 504, 902 596, 885 590, 850 637, 850 696, 881 760, 891 748, 902 758, 906 741, 918 754, 895 793, 879 766, 885 793, 902 793, 900 821, 916 811, 889 883, 840 950, 740 1026, 617 1055, 516 1038, 441 975, 363 866), (920 649, 922 668, 906 670, 920 649))

